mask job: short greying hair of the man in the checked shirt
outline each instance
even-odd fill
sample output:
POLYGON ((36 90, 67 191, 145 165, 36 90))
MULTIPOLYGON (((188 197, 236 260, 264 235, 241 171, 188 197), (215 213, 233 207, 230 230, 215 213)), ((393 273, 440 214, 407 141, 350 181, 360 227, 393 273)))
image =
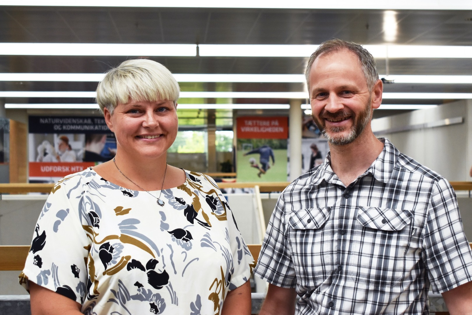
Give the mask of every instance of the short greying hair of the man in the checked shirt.
POLYGON ((363 48, 361 45, 346 42, 340 39, 332 39, 321 43, 318 49, 312 53, 310 60, 308 60, 308 65, 305 70, 305 79, 306 84, 310 87, 310 70, 312 69, 313 62, 320 57, 321 55, 329 54, 332 52, 347 50, 354 52, 362 67, 362 72, 364 77, 367 80, 367 86, 369 91, 372 91, 375 83, 379 80, 379 74, 377 73, 377 67, 375 64, 375 59, 372 57, 371 53, 363 48))

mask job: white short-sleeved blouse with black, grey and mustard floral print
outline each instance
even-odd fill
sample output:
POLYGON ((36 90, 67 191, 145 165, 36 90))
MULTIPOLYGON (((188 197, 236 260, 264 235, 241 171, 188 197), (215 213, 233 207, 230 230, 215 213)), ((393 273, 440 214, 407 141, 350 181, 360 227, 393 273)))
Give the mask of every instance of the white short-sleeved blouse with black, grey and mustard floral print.
MULTIPOLYGON (((160 191, 119 187, 87 169, 61 179, 20 274, 82 304, 84 314, 220 314, 254 266, 213 179, 185 170, 160 191)), ((51 305, 51 307, 54 307, 51 305)))

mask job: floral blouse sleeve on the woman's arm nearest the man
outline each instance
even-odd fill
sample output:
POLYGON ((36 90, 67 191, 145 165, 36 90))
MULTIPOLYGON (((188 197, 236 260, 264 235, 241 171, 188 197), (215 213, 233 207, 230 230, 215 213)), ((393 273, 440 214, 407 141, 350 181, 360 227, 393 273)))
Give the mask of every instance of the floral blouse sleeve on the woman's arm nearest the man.
MULTIPOLYGON (((212 179, 211 183, 215 187, 218 187, 212 179)), ((231 248, 231 255, 233 256, 233 266, 232 268, 230 267, 233 270, 229 282, 229 290, 233 290, 249 281, 255 263, 253 255, 249 251, 249 248, 244 242, 243 236, 237 227, 236 219, 229 207, 228 201, 219 189, 218 195, 223 206, 226 207, 229 247, 231 248)))

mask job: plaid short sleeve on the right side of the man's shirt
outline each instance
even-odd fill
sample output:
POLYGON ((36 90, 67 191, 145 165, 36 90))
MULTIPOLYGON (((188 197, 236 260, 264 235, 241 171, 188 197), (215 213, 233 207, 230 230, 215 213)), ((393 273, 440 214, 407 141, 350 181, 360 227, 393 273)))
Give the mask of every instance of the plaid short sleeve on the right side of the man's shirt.
POLYGON ((455 193, 446 179, 433 187, 423 249, 435 293, 472 280, 472 251, 464 234, 455 193))

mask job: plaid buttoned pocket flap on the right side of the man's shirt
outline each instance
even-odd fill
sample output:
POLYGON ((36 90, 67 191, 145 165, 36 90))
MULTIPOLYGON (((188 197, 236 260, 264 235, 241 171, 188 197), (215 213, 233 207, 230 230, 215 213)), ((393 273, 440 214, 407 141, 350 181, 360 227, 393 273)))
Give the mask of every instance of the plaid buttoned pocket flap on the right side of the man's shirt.
POLYGON ((357 221, 367 228, 399 231, 412 221, 412 217, 408 210, 361 206, 357 221))

